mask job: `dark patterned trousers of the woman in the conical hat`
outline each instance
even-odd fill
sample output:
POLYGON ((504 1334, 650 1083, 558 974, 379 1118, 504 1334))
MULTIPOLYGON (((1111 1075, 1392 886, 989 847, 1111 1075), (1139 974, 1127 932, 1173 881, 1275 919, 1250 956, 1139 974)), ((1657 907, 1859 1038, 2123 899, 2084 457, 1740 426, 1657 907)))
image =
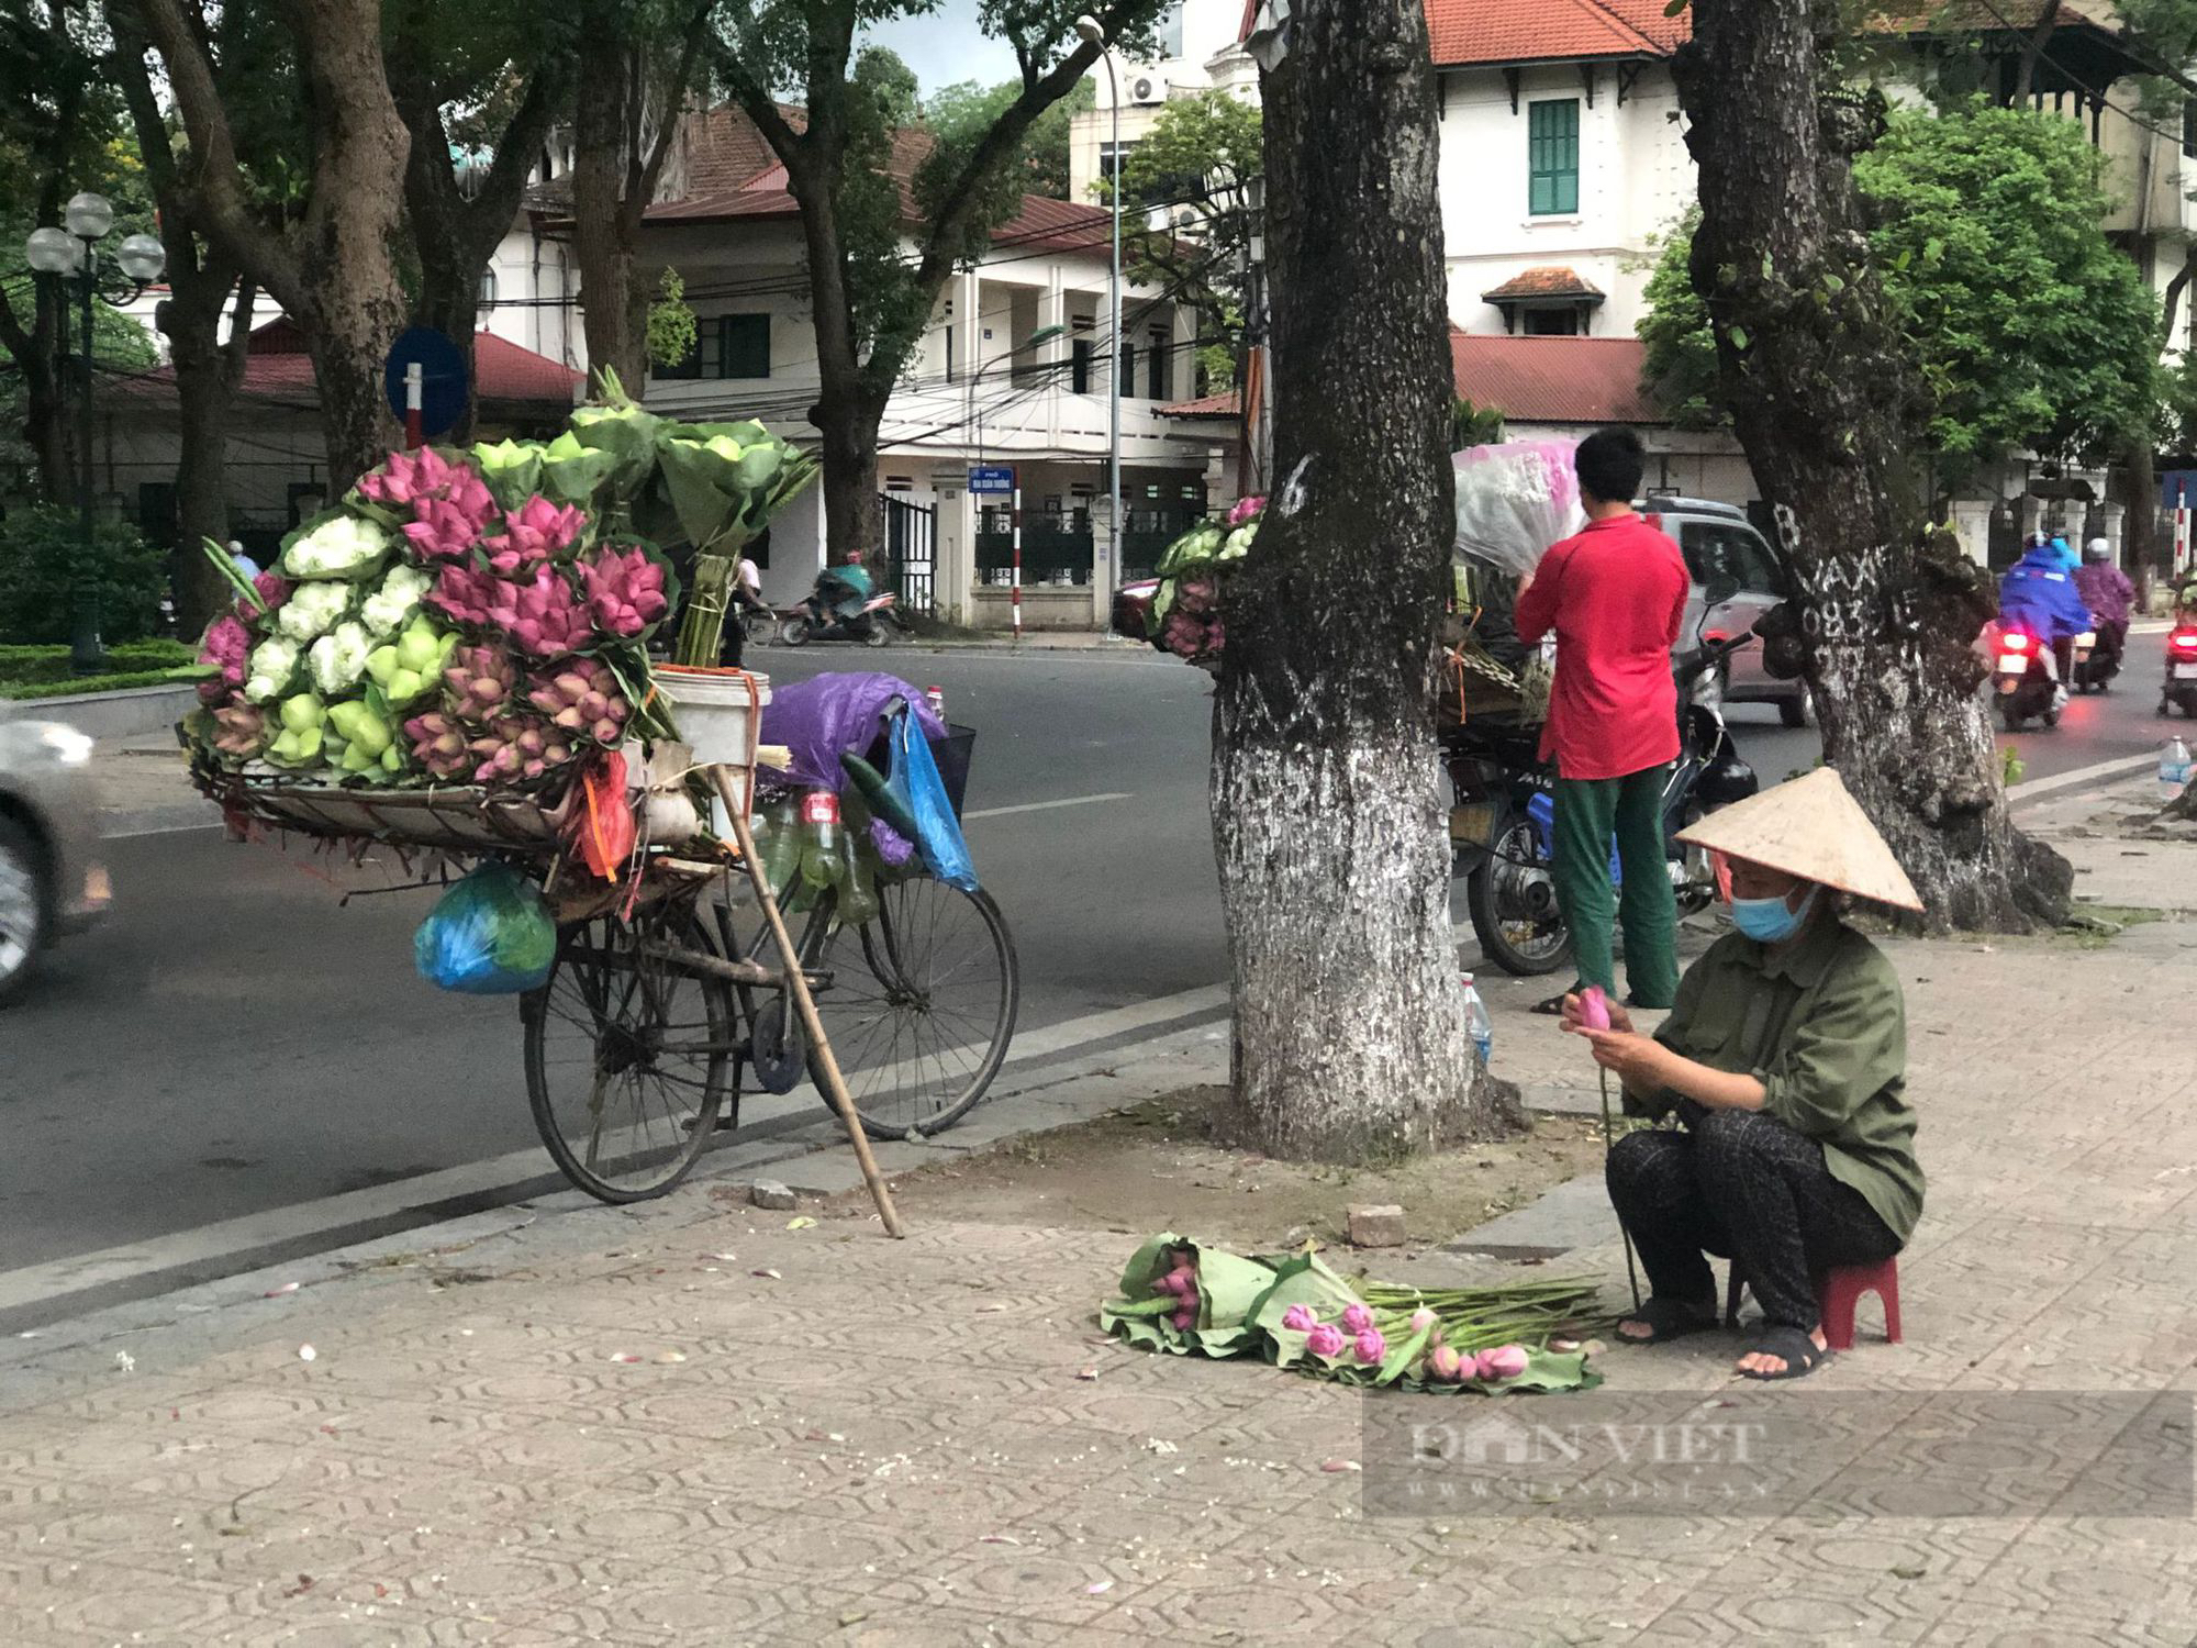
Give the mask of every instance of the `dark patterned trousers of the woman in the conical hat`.
POLYGON ((1714 1252, 1738 1263, 1766 1321, 1808 1332, 1819 1272, 1900 1250, 1867 1198, 1830 1176, 1824 1147, 1760 1110, 1696 1110, 1685 1132, 1626 1134, 1604 1178, 1661 1299, 1714 1305, 1714 1252))

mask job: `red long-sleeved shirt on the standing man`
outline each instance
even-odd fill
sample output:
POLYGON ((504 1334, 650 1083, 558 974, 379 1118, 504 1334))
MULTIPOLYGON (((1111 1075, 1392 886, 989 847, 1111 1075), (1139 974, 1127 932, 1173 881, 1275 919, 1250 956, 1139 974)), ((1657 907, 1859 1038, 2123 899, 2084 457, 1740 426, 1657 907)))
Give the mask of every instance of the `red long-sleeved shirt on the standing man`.
POLYGON ((1685 617, 1679 545, 1637 514, 1551 545, 1518 595, 1518 639, 1555 631, 1555 690, 1540 734, 1560 778, 1624 778, 1679 758, 1670 648, 1685 617))

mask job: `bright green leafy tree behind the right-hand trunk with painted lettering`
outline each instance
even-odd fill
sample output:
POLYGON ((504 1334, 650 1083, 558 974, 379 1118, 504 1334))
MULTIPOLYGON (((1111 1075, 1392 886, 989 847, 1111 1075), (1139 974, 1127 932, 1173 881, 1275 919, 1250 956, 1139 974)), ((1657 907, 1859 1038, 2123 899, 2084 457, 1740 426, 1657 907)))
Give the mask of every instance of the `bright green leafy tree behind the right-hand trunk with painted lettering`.
MULTIPOLYGON (((1929 391, 1922 437, 1940 472, 2019 448, 2094 459, 2153 422, 2160 305, 2100 231, 2103 158, 2078 123, 1984 105, 1905 110, 1856 158, 1854 182, 1885 299, 1929 391)), ((1648 391, 1698 426, 1722 411, 1689 250, 1687 222, 1661 246, 1639 332, 1648 391)), ((1828 281, 1821 299, 1837 299, 1828 281)))

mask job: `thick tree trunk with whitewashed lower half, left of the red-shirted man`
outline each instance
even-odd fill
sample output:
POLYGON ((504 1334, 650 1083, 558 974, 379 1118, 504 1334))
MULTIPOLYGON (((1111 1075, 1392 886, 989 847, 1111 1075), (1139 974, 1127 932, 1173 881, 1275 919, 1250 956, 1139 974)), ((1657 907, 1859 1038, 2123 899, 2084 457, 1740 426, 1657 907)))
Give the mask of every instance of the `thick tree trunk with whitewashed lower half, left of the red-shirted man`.
POLYGON ((1213 846, 1250 1132, 1367 1160, 1507 1107, 1465 1035, 1428 716, 1454 527, 1426 18, 1301 0, 1290 26, 1265 75, 1285 479, 1226 591, 1213 846))

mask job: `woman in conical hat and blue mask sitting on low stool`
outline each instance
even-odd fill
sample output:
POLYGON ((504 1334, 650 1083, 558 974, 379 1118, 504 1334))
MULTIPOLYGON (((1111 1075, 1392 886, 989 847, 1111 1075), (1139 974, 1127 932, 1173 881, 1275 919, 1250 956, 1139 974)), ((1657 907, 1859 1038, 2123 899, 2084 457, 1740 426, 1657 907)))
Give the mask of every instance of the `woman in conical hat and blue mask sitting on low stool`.
POLYGON ((1729 1257, 1764 1318, 1738 1371, 1799 1378, 1828 1356, 1813 1277, 1889 1259, 1922 1213, 1900 982, 1839 901, 1922 903, 1828 767, 1679 839, 1731 864, 1738 932, 1687 969, 1652 1037, 1619 1006, 1608 1031, 1588 1028, 1564 1000, 1564 1028, 1624 1081, 1626 1112, 1683 1121, 1610 1149, 1610 1202, 1650 1281, 1617 1336, 1661 1345, 1714 1327, 1703 1255, 1729 1257))

